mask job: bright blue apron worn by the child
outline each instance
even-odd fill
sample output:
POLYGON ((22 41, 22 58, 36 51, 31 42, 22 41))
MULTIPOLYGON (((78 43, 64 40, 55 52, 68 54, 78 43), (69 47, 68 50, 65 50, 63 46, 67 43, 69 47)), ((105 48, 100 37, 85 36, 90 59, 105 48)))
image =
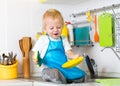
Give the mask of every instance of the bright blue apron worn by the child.
MULTIPOLYGON (((48 37, 49 38, 49 37, 48 37)), ((62 68, 62 64, 67 61, 67 56, 64 51, 62 38, 60 41, 52 41, 49 38, 47 52, 43 58, 43 64, 49 68, 58 69, 66 79, 75 80, 85 76, 85 72, 77 67, 62 68)))

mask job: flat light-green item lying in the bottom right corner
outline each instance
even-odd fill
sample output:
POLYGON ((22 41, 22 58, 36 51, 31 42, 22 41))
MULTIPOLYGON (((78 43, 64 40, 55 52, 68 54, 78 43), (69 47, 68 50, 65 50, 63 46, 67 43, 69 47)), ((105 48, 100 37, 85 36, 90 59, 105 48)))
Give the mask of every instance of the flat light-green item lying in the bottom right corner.
POLYGON ((96 79, 102 86, 120 86, 120 79, 96 79))

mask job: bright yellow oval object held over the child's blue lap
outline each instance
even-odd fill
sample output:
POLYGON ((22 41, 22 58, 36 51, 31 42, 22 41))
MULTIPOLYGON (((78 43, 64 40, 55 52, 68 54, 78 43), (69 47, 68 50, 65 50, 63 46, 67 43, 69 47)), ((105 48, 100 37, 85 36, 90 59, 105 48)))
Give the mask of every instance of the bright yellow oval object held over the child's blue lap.
POLYGON ((67 61, 62 65, 63 68, 72 68, 75 67, 76 65, 80 64, 83 61, 83 57, 80 56, 78 58, 72 59, 67 61))

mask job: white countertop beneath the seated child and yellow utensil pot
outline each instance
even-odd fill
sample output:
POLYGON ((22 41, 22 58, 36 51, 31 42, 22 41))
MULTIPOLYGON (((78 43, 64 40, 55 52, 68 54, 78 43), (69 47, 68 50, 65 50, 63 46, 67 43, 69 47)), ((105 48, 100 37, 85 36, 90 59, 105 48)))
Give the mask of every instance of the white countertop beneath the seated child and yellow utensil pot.
POLYGON ((56 84, 52 82, 42 81, 40 77, 32 77, 30 79, 17 78, 11 80, 0 80, 0 86, 100 86, 99 83, 86 81, 84 83, 72 84, 56 84))

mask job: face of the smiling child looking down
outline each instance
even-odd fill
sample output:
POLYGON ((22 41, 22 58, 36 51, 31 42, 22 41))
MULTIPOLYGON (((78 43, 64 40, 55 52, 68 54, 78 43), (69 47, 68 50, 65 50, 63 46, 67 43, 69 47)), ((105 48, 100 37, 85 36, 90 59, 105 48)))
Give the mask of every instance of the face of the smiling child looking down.
POLYGON ((46 18, 45 25, 45 31, 50 37, 58 39, 61 36, 63 25, 60 19, 46 18))

